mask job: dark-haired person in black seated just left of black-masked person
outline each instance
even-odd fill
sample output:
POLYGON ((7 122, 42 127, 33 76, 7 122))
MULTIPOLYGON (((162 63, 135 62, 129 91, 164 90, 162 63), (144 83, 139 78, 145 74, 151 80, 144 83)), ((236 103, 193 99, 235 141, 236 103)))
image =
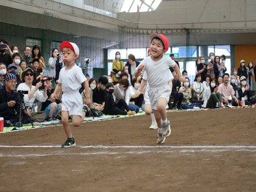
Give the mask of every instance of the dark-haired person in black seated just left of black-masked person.
POLYGON ((106 94, 105 88, 107 83, 108 83, 108 77, 102 76, 99 78, 97 87, 93 90, 93 93, 92 93, 92 102, 95 102, 97 104, 104 106, 105 94, 106 94))

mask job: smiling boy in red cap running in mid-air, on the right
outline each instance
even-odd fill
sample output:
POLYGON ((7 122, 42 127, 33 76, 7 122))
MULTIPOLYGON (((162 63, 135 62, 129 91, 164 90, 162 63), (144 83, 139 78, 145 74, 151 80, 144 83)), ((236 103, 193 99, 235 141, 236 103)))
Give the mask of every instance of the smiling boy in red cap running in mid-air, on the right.
POLYGON ((147 81, 141 81, 138 92, 141 92, 145 84, 148 83, 148 92, 150 97, 150 105, 156 117, 157 126, 157 143, 164 143, 167 136, 171 134, 170 121, 166 116, 166 105, 170 99, 172 92, 172 67, 180 81, 185 81, 180 74, 178 65, 169 56, 164 55, 169 49, 168 38, 160 33, 151 33, 150 52, 151 55, 141 61, 137 67, 135 76, 147 72, 147 81))

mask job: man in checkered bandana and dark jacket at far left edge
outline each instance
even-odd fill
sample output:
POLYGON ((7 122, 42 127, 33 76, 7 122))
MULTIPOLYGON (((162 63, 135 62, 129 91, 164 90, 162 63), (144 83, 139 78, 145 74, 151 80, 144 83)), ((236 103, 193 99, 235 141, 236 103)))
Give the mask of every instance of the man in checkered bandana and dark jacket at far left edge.
MULTIPOLYGON (((14 92, 17 84, 17 77, 13 74, 5 76, 5 85, 0 88, 0 116, 4 118, 4 127, 10 126, 6 120, 15 124, 19 121, 20 97, 14 92)), ((28 109, 24 109, 24 115, 28 115, 28 109)))

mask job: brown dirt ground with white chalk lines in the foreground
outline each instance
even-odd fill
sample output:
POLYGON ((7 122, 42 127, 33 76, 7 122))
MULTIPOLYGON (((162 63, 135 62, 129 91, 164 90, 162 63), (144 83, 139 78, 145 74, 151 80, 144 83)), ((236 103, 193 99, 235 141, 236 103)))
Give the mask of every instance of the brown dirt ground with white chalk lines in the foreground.
POLYGON ((168 113, 156 144, 150 117, 84 122, 77 147, 62 126, 0 134, 0 191, 256 191, 256 108, 168 113))

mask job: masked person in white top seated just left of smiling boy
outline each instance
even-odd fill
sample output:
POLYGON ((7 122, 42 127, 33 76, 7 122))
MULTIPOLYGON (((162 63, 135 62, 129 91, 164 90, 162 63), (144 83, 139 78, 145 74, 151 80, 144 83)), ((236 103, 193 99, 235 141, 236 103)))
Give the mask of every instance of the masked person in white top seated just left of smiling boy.
MULTIPOLYGON (((131 86, 129 86, 126 94, 129 94, 130 102, 134 102, 136 106, 141 108, 144 100, 143 93, 139 93, 138 88, 140 88, 140 82, 141 79, 138 79, 137 77, 134 77, 131 82, 131 86)), ((143 90, 144 92, 145 90, 143 90)))

